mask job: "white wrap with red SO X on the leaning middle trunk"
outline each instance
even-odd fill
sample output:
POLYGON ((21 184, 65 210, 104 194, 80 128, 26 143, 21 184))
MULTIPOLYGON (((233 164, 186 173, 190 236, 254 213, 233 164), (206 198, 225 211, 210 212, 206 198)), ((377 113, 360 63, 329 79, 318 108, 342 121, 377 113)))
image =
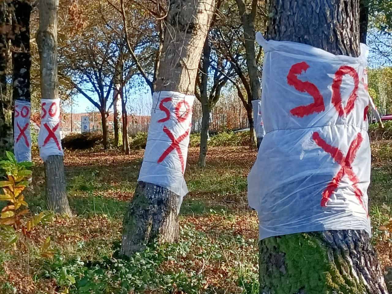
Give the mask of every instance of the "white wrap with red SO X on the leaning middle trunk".
POLYGON ((152 95, 151 122, 138 181, 160 185, 183 197, 194 96, 161 91, 152 95))

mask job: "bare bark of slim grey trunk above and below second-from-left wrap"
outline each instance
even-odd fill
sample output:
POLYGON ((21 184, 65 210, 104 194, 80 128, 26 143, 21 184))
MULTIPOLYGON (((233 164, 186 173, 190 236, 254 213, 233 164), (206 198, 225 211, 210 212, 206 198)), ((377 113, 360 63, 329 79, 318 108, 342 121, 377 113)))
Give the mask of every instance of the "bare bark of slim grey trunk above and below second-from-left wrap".
MULTIPOLYGON (((58 98, 57 8, 58 0, 40 0, 38 3, 40 25, 36 39, 40 53, 42 99, 58 98)), ((71 215, 65 187, 63 156, 52 155, 46 160, 45 183, 49 208, 60 214, 71 215)))

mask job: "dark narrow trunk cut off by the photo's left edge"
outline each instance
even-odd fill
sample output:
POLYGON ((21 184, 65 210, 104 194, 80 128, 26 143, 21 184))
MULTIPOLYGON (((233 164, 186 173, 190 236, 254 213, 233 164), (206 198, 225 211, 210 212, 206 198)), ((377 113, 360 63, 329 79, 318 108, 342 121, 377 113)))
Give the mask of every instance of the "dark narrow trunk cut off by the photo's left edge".
POLYGON ((8 34, 10 30, 9 10, 6 1, 0 3, 0 27, 4 28, 0 34, 0 158, 5 151, 12 151, 12 103, 7 95, 7 64, 8 64, 8 34))

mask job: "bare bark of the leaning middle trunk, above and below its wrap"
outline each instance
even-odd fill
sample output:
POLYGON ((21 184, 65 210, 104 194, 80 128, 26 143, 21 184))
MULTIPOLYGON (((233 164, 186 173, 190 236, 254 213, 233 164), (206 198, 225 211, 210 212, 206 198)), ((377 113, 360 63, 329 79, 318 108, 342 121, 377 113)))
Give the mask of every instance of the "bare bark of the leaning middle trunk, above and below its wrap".
MULTIPOLYGON (((213 7, 214 0, 170 1, 156 91, 194 94, 201 48, 213 7)), ((129 256, 154 238, 160 242, 178 240, 179 206, 179 195, 158 185, 139 182, 124 216, 122 253, 129 256)))

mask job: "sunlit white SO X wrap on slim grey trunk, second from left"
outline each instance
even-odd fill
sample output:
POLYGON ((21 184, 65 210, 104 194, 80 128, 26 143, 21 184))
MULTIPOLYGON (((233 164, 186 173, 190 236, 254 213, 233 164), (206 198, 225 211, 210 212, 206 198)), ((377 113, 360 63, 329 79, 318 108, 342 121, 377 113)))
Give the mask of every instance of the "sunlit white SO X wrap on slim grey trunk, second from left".
POLYGON ((40 156, 64 156, 60 137, 60 99, 41 99, 41 127, 38 134, 40 156))

